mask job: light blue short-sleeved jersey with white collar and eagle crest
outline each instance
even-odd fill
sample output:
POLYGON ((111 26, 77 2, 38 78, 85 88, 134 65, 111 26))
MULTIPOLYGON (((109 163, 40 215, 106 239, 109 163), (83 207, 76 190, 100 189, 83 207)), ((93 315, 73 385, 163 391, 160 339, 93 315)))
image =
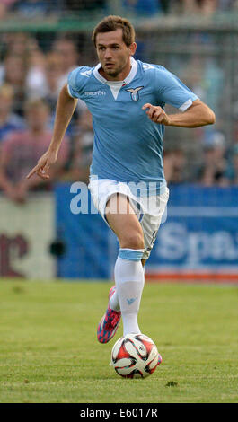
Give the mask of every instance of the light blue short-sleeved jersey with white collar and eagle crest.
POLYGON ((99 179, 156 183, 163 174, 163 125, 148 119, 146 102, 187 110, 198 97, 163 66, 131 57, 131 70, 122 82, 107 81, 101 65, 81 66, 68 76, 68 92, 85 101, 93 116, 94 146, 91 175, 99 179))

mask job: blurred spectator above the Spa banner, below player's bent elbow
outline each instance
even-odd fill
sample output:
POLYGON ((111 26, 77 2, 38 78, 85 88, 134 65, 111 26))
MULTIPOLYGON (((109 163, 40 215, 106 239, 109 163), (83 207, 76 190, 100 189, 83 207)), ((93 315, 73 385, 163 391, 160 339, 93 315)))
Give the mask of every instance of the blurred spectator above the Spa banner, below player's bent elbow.
POLYGON ((209 131, 205 137, 203 163, 198 167, 195 179, 204 186, 226 186, 225 136, 218 131, 209 131))

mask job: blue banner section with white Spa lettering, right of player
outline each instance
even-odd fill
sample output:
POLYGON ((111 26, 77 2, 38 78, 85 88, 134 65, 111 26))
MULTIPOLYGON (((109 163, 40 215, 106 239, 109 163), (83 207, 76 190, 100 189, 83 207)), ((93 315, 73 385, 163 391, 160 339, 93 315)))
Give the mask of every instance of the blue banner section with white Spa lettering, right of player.
POLYGON ((171 189, 147 269, 151 272, 221 272, 238 275, 238 189, 171 189))

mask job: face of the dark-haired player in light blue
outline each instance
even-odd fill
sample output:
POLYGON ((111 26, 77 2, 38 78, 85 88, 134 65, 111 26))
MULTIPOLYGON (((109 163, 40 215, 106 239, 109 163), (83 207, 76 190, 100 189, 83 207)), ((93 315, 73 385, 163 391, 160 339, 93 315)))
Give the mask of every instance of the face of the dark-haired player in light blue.
POLYGON ((106 79, 123 80, 130 71, 130 56, 135 54, 137 44, 129 47, 122 40, 122 30, 99 32, 96 48, 101 63, 101 74, 106 79))

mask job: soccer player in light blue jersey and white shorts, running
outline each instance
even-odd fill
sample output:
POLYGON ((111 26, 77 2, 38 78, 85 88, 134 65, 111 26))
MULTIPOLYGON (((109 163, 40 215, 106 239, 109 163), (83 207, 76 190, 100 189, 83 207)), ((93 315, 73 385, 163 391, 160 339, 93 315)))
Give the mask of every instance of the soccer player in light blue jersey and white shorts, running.
POLYGON ((105 17, 94 28, 93 43, 99 64, 80 66, 69 74, 59 93, 51 143, 27 177, 37 173, 48 179, 77 99, 84 100, 94 130, 89 189, 119 240, 115 286, 97 330, 98 340, 107 343, 121 317, 124 335, 140 333, 137 314, 145 261, 169 197, 163 175, 164 126, 210 125, 215 114, 163 66, 133 58, 137 44, 127 19, 105 17), (179 111, 166 114, 166 103, 179 111))

